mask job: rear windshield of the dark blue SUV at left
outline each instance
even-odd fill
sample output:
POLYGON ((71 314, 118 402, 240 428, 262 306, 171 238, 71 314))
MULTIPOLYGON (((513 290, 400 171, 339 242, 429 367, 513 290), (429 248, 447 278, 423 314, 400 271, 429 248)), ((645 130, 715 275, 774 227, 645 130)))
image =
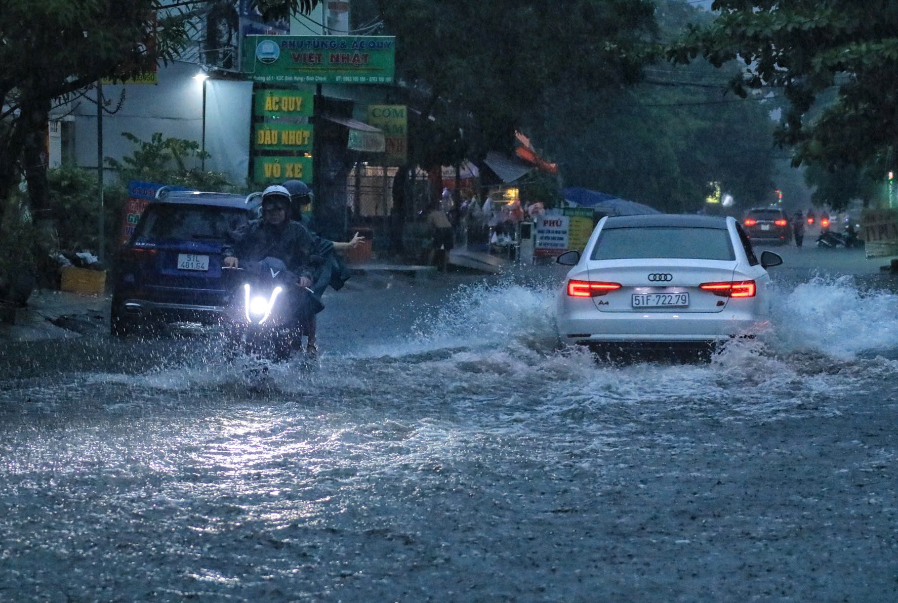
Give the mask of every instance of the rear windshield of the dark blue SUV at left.
POLYGON ((249 214, 235 207, 209 205, 151 205, 146 208, 135 237, 156 240, 224 241, 246 223, 249 214))

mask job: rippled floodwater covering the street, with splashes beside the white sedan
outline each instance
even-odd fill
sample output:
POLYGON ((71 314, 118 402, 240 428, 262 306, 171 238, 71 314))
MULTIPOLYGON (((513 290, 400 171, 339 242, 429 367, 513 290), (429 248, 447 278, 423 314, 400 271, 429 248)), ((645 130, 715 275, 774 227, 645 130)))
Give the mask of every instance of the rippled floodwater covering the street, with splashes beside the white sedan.
POLYGON ((698 364, 559 349, 553 296, 262 376, 212 336, 4 351, 0 600, 898 597, 898 296, 782 286, 698 364))

